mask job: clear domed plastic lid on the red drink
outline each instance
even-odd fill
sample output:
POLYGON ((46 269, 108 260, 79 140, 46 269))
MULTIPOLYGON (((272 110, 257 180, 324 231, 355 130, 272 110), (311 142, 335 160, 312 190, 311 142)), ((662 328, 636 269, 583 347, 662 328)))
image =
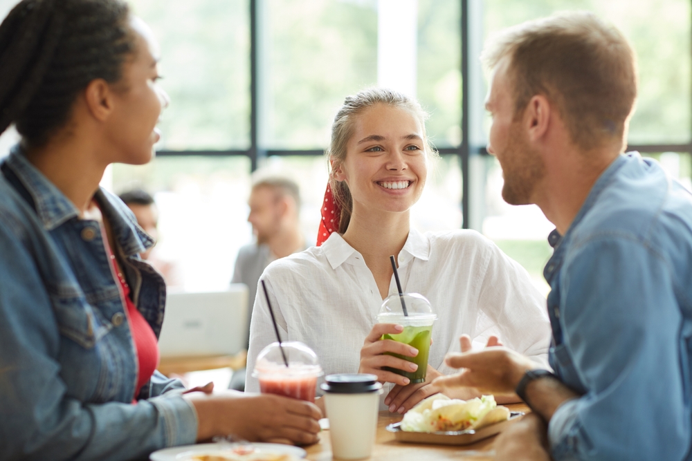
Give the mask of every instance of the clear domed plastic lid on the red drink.
POLYGON ((275 375, 276 373, 289 375, 310 375, 321 376, 322 368, 317 361, 316 353, 299 341, 274 342, 262 349, 257 355, 257 362, 253 376, 275 375), (284 350, 286 360, 289 361, 289 368, 286 368, 281 349, 284 350))

